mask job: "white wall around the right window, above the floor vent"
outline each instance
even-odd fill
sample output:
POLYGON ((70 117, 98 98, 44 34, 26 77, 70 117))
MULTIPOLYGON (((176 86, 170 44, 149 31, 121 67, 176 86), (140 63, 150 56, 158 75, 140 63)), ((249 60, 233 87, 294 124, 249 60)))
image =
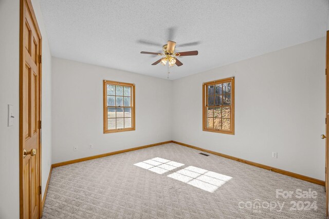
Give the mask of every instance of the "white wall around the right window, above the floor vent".
POLYGON ((324 180, 324 69, 323 37, 177 79, 173 140, 324 180), (231 76, 235 135, 202 131, 202 83, 231 76))

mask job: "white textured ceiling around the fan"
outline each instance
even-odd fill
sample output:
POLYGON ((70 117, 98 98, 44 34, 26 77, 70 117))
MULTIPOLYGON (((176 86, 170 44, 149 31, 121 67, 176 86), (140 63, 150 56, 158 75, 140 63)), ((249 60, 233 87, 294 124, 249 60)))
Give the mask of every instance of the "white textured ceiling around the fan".
POLYGON ((53 56, 167 78, 167 66, 140 51, 179 57, 170 79, 325 36, 327 0, 40 0, 53 56), (185 45, 185 46, 184 46, 185 45))

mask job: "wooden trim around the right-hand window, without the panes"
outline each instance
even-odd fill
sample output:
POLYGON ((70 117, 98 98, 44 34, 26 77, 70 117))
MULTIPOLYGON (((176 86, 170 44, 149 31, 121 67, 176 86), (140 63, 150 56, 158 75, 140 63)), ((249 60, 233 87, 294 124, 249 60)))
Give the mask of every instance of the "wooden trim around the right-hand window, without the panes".
MULTIPOLYGON (((203 126, 203 131, 209 131, 209 132, 217 132, 217 133, 223 133, 223 134, 232 134, 234 135, 234 77, 228 77, 220 80, 215 80, 207 83, 203 83, 202 85, 202 126, 203 126), (221 84, 221 83, 226 83, 226 82, 231 82, 231 130, 220 130, 220 129, 213 129, 213 128, 207 128, 206 125, 206 118, 207 118, 207 97, 208 97, 208 92, 207 92, 207 86, 208 85, 215 85, 215 84, 221 84)), ((215 107, 215 106, 214 106, 215 107)))

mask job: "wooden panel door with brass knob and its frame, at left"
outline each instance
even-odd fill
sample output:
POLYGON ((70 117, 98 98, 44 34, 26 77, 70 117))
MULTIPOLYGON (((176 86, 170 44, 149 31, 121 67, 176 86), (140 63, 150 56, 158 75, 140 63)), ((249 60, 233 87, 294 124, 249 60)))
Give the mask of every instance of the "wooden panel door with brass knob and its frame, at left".
POLYGON ((21 1, 20 214, 41 215, 41 34, 30 0, 21 1))

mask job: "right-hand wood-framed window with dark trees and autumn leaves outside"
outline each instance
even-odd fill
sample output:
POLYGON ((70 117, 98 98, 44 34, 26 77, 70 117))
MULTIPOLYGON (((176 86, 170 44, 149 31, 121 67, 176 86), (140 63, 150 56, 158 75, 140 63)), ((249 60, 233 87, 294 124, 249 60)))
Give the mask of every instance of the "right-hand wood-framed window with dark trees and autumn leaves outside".
POLYGON ((234 77, 203 84, 203 130, 234 134, 234 77))

